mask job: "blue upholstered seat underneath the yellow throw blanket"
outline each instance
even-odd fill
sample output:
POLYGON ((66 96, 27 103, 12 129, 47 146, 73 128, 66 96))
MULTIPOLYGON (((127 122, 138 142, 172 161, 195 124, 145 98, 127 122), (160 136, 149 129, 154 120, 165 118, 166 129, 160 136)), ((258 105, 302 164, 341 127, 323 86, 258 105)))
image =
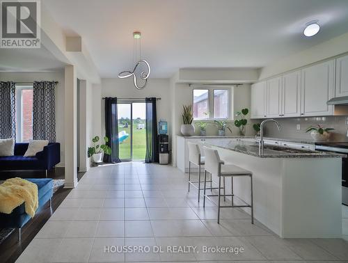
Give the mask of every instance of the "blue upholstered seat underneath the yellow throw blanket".
MULTIPOLYGON (((36 210, 36 213, 40 212, 40 209, 45 206, 49 201, 51 206, 51 198, 53 196, 53 180, 50 178, 29 178, 26 179, 30 182, 33 182, 38 186, 38 200, 39 207, 36 210)), ((18 239, 21 239, 21 229, 22 227, 30 220, 30 216, 26 214, 24 203, 13 209, 11 214, 0 213, 0 228, 18 228, 19 236, 18 239)))

